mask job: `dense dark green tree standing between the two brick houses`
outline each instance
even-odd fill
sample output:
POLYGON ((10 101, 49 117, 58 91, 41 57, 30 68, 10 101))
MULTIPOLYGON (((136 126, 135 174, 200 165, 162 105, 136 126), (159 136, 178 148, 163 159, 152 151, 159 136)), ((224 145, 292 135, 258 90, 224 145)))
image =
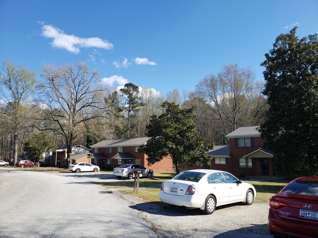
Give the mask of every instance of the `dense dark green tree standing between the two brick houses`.
POLYGON ((209 164, 211 156, 206 152, 213 148, 205 144, 203 137, 197 136, 193 122, 194 107, 181 109, 179 105, 165 101, 162 105, 165 112, 160 116, 152 116, 147 126, 147 136, 151 137, 140 151, 148 156, 149 164, 154 164, 166 156, 171 156, 180 173, 180 164, 209 164))

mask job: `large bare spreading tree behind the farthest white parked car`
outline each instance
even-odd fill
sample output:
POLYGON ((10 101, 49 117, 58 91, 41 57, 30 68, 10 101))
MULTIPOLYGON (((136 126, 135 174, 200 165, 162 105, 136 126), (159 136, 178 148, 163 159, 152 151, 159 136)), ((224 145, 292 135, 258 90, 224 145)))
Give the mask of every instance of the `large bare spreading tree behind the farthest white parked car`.
POLYGON ((62 135, 67 143, 67 160, 71 163, 72 143, 81 136, 84 122, 102 117, 102 88, 99 73, 90 70, 84 62, 55 67, 44 64, 38 99, 45 115, 45 130, 53 130, 62 135), (55 126, 57 125, 57 126, 55 126))

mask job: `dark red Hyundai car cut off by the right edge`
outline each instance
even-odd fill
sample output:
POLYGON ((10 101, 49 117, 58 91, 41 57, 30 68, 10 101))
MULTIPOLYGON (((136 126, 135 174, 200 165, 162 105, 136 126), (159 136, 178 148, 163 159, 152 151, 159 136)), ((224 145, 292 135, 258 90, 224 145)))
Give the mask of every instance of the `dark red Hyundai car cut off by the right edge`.
POLYGON ((318 237, 318 177, 301 177, 270 198, 268 225, 274 237, 318 237))

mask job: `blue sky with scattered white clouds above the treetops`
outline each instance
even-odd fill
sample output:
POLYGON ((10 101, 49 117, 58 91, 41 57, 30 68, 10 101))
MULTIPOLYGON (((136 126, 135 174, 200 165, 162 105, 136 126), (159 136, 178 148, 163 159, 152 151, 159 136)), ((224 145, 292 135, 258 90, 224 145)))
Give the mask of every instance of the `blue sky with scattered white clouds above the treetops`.
POLYGON ((0 0, 0 61, 39 79, 43 63, 85 61, 114 87, 182 93, 227 64, 264 80, 264 54, 294 25, 318 33, 318 0, 0 0))

